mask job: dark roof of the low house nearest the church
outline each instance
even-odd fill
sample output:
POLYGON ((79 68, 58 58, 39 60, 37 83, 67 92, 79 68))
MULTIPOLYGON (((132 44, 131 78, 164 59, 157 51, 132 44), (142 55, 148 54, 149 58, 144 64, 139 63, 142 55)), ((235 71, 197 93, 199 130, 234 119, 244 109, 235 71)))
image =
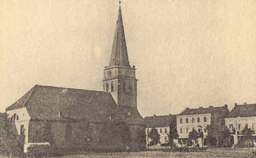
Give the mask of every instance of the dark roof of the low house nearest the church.
POLYGON ((146 127, 168 127, 175 122, 176 115, 151 116, 144 118, 146 127))

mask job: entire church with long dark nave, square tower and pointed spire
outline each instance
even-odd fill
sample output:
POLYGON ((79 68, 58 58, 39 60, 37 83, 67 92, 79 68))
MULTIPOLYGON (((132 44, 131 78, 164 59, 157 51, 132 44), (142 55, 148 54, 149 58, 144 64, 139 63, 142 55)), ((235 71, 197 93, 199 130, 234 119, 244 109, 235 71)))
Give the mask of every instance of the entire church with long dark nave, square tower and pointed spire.
POLYGON ((119 5, 103 91, 35 85, 5 110, 24 137, 24 152, 124 151, 145 149, 137 110, 136 68, 128 58, 119 5))

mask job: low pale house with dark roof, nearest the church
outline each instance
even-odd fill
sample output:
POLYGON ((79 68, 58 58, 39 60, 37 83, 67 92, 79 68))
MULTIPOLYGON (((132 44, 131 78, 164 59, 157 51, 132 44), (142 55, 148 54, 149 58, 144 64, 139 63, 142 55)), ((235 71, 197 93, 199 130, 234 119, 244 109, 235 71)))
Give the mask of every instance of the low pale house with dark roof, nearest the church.
MULTIPOLYGON (((176 129, 176 115, 164 115, 164 116, 151 116, 144 118, 146 144, 152 145, 152 139, 148 136, 150 131, 154 128, 160 135, 159 144, 168 144, 170 141, 170 127, 176 129)), ((174 140, 177 143, 177 139, 174 140)))

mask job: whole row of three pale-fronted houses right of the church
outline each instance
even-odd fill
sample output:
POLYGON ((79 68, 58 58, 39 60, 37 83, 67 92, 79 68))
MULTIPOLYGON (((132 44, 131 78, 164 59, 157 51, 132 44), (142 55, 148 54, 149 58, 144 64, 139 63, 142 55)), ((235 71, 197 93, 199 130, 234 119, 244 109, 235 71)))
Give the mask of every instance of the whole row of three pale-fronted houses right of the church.
MULTIPOLYGON (((167 144, 169 140, 170 127, 175 128, 178 133, 178 139, 174 139, 176 144, 184 144, 188 141, 189 132, 196 130, 201 133, 203 138, 208 135, 208 128, 214 127, 214 130, 224 131, 229 129, 232 135, 232 143, 237 144, 241 137, 246 133, 245 128, 253 131, 253 142, 256 143, 256 104, 235 104, 234 108, 229 111, 228 105, 219 107, 199 107, 186 108, 177 115, 151 116, 145 117, 145 134, 146 143, 152 141, 148 136, 149 132, 154 128, 160 135, 160 144, 167 144)), ((197 140, 199 146, 203 146, 204 139, 197 140)))

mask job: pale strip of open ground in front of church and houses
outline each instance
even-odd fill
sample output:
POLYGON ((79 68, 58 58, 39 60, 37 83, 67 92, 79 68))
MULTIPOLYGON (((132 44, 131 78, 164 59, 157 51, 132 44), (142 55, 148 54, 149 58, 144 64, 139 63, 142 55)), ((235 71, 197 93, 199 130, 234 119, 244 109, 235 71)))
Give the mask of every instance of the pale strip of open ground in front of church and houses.
POLYGON ((211 149, 206 152, 181 153, 145 151, 131 153, 81 153, 65 158, 253 158, 253 149, 211 149))

